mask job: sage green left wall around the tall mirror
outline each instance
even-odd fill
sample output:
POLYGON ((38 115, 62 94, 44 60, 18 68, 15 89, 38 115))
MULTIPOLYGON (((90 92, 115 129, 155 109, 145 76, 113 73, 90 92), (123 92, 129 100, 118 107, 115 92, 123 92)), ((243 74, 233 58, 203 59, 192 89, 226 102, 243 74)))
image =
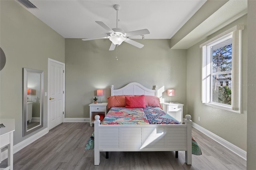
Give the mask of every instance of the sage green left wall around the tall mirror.
POLYGON ((65 39, 13 0, 0 1, 0 45, 6 65, 0 71, 0 118, 15 119, 14 145, 47 128, 22 137, 23 67, 44 71, 47 92, 48 58, 65 62, 65 39))

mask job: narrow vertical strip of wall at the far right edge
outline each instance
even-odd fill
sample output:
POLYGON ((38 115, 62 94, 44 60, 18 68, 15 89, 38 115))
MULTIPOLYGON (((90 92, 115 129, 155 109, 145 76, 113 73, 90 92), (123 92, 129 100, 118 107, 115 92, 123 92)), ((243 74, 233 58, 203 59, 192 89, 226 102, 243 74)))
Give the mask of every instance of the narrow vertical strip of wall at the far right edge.
MULTIPOLYGON (((248 85, 256 83, 256 1, 248 0, 248 85)), ((247 169, 256 169, 256 87, 248 87, 247 169)))

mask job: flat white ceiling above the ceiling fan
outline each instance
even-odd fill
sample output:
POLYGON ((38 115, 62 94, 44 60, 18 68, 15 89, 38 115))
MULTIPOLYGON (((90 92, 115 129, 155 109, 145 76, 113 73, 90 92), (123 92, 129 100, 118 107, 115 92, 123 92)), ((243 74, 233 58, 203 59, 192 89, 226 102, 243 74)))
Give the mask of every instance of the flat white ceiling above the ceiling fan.
MULTIPOLYGON (((206 0, 30 0, 39 9, 28 9, 64 38, 106 36, 106 30, 95 21, 124 32, 147 28, 146 39, 170 39, 206 0)), ((18 2, 19 3, 19 2, 18 2)), ((20 4, 20 3, 19 3, 20 4)), ((22 5, 22 4, 21 4, 22 5)), ((22 5, 23 6, 23 5, 22 5)), ((131 37, 132 39, 141 36, 131 37)))

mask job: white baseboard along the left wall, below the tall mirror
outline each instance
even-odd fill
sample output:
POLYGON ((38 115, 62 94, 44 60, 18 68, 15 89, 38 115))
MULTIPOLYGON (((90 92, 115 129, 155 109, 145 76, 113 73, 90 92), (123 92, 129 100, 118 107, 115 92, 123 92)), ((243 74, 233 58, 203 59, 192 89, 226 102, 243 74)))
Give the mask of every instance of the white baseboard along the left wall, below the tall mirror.
MULTIPOLYGON (((19 150, 21 150, 22 148, 25 148, 26 146, 28 146, 29 144, 31 144, 32 142, 36 141, 37 139, 39 139, 40 137, 44 136, 45 134, 47 134, 49 132, 48 128, 44 128, 43 130, 41 130, 40 132, 34 134, 33 136, 30 136, 29 138, 26 138, 25 140, 22 140, 20 143, 16 144, 13 146, 13 154, 15 154, 16 152, 18 152, 19 150)), ((8 150, 4 150, 1 153, 1 161, 5 160, 6 158, 8 158, 8 150)))

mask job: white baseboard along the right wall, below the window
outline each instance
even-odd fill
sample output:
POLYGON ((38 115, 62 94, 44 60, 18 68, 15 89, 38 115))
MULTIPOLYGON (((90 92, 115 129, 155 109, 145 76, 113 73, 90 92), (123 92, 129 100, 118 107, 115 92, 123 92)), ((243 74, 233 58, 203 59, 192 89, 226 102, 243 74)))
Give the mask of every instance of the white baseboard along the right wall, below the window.
POLYGON ((236 145, 228 142, 227 140, 221 138, 220 136, 210 132, 209 130, 201 127, 200 125, 198 125, 194 122, 192 123, 192 127, 196 128, 197 130, 199 130, 200 132, 202 132, 206 136, 212 138, 213 140, 215 140, 216 142, 218 142, 219 144, 221 144, 222 146, 224 146, 228 150, 234 152, 235 154, 237 154, 238 156, 240 156, 244 160, 247 160, 247 157, 246 157, 247 152, 245 150, 242 150, 241 148, 237 147, 236 145))

